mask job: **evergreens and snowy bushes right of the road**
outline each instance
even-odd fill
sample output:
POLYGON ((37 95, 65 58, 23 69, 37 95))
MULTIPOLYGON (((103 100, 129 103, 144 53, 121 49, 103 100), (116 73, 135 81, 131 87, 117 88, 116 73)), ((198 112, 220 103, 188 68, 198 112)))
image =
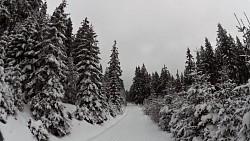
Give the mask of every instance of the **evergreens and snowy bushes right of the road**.
POLYGON ((127 100, 144 111, 176 140, 250 140, 250 28, 240 24, 243 42, 218 24, 216 46, 205 38, 187 48, 184 73, 175 76, 136 67, 127 100))

